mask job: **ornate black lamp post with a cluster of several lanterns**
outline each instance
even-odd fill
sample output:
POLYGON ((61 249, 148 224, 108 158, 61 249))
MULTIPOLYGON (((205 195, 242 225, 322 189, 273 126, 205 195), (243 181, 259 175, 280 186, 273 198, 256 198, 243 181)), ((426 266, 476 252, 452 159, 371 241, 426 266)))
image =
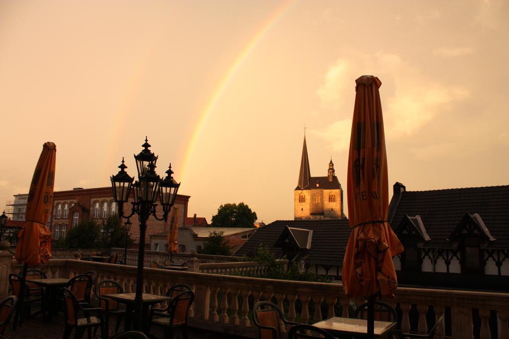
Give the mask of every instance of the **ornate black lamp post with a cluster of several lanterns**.
POLYGON ((120 171, 111 176, 111 187, 113 189, 113 198, 119 205, 119 217, 129 219, 134 214, 138 215, 139 220, 139 249, 138 249, 138 267, 136 272, 136 294, 134 297, 134 328, 141 329, 140 320, 142 319, 142 301, 143 301, 143 262, 145 256, 145 231, 147 230, 147 219, 150 215, 156 220, 166 221, 171 210, 180 183, 177 183, 172 177, 172 165, 166 171, 168 176, 161 179, 156 174, 157 158, 149 149, 150 144, 147 138, 142 145, 144 149, 134 156, 136 161, 136 170, 138 180, 133 183, 134 178, 130 177, 125 171, 124 158, 120 164, 120 171), (130 214, 124 214, 124 203, 128 202, 129 194, 133 190, 133 202, 131 202, 130 214), (156 215, 156 200, 159 196, 162 205, 162 218, 156 215))

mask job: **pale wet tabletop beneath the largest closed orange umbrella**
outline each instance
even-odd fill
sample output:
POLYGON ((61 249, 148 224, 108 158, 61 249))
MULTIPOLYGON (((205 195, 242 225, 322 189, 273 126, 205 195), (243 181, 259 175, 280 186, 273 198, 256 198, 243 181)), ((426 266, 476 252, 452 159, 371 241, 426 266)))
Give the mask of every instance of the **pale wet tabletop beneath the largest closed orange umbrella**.
MULTIPOLYGON (((398 323, 375 320, 375 337, 385 338, 398 323)), ((330 332, 332 335, 362 336, 367 334, 367 320, 334 317, 322 320, 313 326, 330 332)))

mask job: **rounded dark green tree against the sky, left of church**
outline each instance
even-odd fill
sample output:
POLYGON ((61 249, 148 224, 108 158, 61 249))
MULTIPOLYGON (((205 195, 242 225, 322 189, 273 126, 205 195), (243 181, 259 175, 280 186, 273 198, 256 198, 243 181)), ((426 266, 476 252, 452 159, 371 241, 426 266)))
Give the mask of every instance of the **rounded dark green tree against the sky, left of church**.
POLYGON ((213 215, 211 224, 215 227, 255 227, 256 212, 243 202, 239 204, 224 204, 219 206, 217 214, 213 215))

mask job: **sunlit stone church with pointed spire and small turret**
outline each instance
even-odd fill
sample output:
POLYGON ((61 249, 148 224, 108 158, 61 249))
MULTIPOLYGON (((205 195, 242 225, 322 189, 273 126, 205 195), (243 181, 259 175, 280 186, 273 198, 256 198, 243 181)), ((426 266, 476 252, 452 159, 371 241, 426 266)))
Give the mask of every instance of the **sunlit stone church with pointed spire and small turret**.
POLYGON ((332 157, 327 176, 311 176, 307 156, 306 135, 300 159, 299 179, 294 190, 295 220, 342 219, 343 189, 337 180, 332 157))

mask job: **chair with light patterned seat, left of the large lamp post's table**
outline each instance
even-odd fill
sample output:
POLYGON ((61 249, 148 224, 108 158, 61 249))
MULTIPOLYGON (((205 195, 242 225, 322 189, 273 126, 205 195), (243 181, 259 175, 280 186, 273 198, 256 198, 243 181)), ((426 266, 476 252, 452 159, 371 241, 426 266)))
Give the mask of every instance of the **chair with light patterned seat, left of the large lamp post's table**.
POLYGON ((85 330, 88 337, 92 337, 92 327, 101 327, 102 339, 107 339, 108 333, 104 326, 102 310, 100 307, 90 307, 88 303, 80 303, 76 296, 66 287, 64 291, 64 307, 65 307, 65 329, 64 339, 68 339, 73 328, 76 330, 74 338, 81 338, 85 330), (79 318, 80 311, 83 317, 79 318), (90 316, 91 312, 97 312, 97 317, 90 316))

